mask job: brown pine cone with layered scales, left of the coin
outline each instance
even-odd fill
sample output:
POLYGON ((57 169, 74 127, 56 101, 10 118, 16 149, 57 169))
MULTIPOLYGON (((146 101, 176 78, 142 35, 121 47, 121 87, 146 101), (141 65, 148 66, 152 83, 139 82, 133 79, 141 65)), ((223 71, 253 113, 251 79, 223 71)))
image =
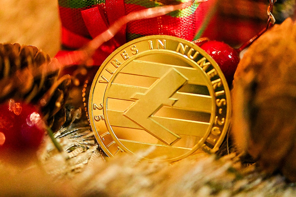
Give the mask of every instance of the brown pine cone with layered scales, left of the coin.
POLYGON ((47 71, 51 59, 34 46, 0 44, 0 103, 13 98, 39 105, 53 131, 65 122, 64 104, 71 86, 69 75, 47 71))

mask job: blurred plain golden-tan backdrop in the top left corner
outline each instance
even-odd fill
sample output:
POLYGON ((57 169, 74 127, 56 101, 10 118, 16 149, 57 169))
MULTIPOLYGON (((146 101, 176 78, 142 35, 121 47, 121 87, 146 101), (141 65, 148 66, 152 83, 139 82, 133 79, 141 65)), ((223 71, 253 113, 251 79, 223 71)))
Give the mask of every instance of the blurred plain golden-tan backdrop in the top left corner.
POLYGON ((34 45, 53 57, 60 26, 57 0, 0 1, 0 43, 34 45))

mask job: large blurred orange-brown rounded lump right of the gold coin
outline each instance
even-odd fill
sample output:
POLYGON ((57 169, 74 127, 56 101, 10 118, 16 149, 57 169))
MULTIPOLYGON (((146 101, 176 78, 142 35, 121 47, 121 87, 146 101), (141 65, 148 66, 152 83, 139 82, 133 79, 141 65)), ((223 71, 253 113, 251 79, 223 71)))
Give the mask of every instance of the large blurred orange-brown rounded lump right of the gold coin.
POLYGON ((234 75, 232 134, 262 170, 296 181, 296 23, 274 25, 234 75))

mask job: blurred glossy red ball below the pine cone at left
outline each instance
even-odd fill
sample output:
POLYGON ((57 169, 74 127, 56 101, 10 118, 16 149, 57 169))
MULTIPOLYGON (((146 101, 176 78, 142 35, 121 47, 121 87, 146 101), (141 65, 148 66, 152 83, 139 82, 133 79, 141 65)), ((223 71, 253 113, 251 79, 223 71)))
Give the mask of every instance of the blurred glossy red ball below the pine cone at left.
POLYGON ((36 151, 44 137, 35 106, 9 100, 0 105, 0 155, 36 151))

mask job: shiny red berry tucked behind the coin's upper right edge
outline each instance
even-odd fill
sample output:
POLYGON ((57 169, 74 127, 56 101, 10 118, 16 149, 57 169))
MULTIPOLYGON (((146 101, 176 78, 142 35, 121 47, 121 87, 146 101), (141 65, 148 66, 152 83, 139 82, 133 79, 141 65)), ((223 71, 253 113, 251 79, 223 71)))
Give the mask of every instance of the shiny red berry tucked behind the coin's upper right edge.
POLYGON ((228 44, 219 41, 207 41, 200 48, 205 50, 221 68, 228 86, 231 87, 234 73, 239 63, 239 53, 228 44))

